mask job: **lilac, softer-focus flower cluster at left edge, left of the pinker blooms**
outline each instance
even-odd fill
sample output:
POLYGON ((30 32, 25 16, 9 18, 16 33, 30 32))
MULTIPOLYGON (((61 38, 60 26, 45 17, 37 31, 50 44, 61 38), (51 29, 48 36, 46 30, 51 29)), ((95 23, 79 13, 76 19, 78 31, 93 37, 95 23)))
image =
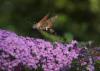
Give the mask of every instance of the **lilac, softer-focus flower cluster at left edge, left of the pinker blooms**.
POLYGON ((28 46, 15 33, 0 30, 0 68, 13 70, 20 63, 36 68, 36 62, 29 52, 28 46))

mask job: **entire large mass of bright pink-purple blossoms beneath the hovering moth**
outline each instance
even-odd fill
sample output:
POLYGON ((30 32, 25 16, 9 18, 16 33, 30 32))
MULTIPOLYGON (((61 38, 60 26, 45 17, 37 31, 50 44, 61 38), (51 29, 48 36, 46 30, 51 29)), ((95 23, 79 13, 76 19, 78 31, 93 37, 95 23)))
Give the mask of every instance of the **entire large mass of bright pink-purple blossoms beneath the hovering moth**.
POLYGON ((44 71, 66 71, 79 51, 76 41, 51 43, 0 30, 0 70, 15 71, 23 65, 29 69, 41 67, 44 71))

